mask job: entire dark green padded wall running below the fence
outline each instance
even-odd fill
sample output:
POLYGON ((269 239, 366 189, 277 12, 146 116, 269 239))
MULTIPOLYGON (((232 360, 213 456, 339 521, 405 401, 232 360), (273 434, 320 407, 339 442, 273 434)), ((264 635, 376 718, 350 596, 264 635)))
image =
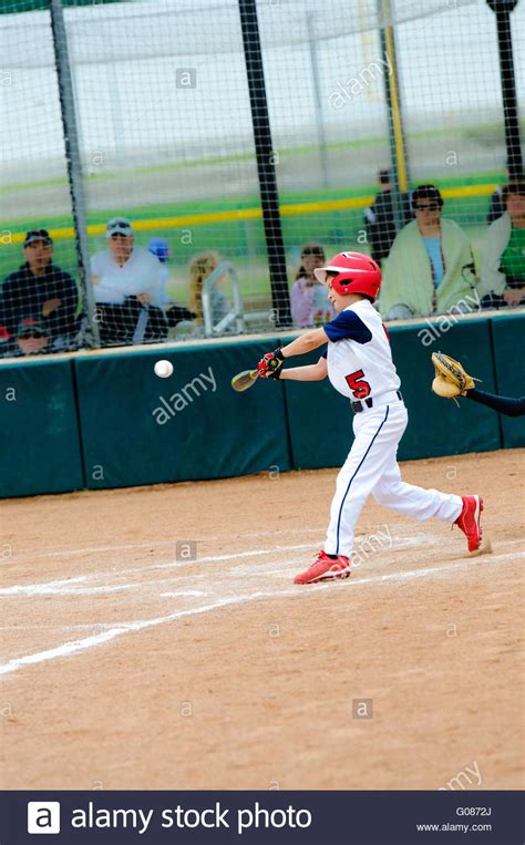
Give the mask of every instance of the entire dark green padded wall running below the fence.
MULTIPOLYGON (((410 416, 400 460, 525 445, 524 418, 467 400, 457 409, 430 389, 430 354, 441 349, 481 378, 483 389, 522 395, 524 328, 524 316, 502 315, 457 322, 437 339, 425 323, 391 330, 410 416)), ((353 415, 328 380, 231 390, 231 375, 276 346, 268 338, 1 364, 0 496, 340 466, 353 415), (158 358, 174 363, 172 378, 154 375, 158 358)))

